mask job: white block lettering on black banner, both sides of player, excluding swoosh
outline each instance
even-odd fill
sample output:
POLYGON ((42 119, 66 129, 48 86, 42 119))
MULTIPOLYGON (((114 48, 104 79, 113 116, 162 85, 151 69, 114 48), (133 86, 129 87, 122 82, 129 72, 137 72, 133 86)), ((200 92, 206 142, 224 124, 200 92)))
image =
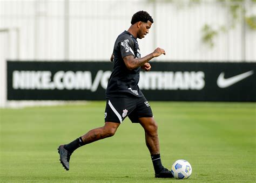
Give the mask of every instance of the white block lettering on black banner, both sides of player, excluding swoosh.
MULTIPOLYGON (((14 71, 12 88, 41 90, 91 90, 96 91, 99 85, 106 89, 111 71, 99 70, 92 78, 90 71, 14 71)), ((144 90, 201 90, 205 86, 205 74, 198 72, 141 72, 140 89, 144 90)))

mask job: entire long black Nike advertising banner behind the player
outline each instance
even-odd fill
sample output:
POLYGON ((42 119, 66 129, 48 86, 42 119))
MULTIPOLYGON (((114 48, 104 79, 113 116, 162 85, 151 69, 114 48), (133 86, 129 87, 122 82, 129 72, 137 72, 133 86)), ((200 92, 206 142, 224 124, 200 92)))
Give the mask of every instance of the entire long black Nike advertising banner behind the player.
MULTIPOLYGON (((154 101, 256 101, 256 62, 150 62, 154 101)), ((8 61, 8 100, 105 100, 112 62, 8 61)))

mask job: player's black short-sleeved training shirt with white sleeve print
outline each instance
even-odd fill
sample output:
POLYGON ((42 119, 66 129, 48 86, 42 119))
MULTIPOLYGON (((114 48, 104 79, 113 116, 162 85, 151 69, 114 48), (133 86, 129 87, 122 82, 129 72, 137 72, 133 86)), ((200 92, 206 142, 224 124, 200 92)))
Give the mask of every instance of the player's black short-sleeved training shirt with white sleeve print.
POLYGON ((127 93, 137 97, 143 96, 138 87, 140 67, 133 70, 127 69, 123 60, 127 55, 140 58, 140 51, 136 38, 128 31, 124 31, 114 43, 114 66, 107 84, 106 96, 123 96, 127 93))

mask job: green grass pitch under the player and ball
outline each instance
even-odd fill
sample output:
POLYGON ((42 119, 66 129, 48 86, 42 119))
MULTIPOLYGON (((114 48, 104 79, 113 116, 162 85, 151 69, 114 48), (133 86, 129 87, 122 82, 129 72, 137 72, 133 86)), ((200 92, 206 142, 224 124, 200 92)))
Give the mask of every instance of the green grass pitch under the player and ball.
MULTIPOLYGON (((255 103, 151 102, 162 163, 192 165, 186 182, 255 182, 255 103)), ((116 135, 75 151, 57 147, 104 125, 105 102, 0 109, 0 182, 178 182, 154 178, 144 131, 129 118, 116 135)))

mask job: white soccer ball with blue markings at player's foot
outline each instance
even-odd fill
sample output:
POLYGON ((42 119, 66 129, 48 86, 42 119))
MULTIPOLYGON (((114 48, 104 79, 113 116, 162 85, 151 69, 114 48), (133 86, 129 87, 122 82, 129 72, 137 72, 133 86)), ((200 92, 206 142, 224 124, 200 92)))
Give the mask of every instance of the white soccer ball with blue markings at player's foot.
POLYGON ((176 179, 187 179, 192 173, 192 167, 188 161, 179 159, 172 165, 171 172, 176 179))

